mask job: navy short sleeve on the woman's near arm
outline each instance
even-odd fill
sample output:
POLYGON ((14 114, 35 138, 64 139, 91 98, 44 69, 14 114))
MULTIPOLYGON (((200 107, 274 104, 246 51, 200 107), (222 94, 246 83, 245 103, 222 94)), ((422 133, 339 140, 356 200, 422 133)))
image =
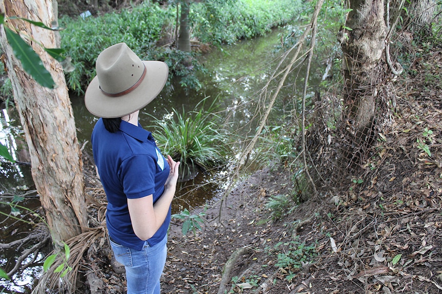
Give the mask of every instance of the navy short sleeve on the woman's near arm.
POLYGON ((141 198, 155 192, 155 160, 146 154, 137 154, 123 161, 120 180, 127 198, 141 198))

